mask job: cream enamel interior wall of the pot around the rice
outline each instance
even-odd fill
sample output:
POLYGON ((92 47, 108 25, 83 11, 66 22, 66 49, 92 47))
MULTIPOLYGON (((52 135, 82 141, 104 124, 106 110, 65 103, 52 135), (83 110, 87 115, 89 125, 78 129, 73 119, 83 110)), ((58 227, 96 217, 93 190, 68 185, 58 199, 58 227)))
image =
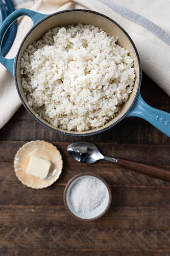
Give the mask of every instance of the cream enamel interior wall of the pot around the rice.
POLYGON ((87 11, 67 11, 67 12, 61 12, 53 14, 46 19, 44 19, 40 24, 35 26, 32 31, 26 36, 25 40, 22 42, 22 45, 20 47, 20 51, 17 58, 17 65, 16 65, 16 80, 18 84, 18 89, 20 92, 20 95, 25 101, 25 104, 27 105, 27 108, 32 112, 32 114, 38 118, 42 123, 46 124, 47 126, 51 127, 52 129, 55 129, 56 131, 69 133, 70 135, 88 135, 88 134, 94 134, 98 133, 99 131, 104 131, 108 129, 110 126, 116 124, 118 121, 120 121, 125 114, 128 112, 129 108, 131 107, 132 103, 134 102, 136 95, 139 91, 140 86, 140 68, 139 68, 139 62, 137 58, 137 53, 128 38, 128 36, 113 22, 111 22, 110 19, 107 19, 106 17, 92 13, 87 11), (43 118, 39 117, 36 111, 28 104, 26 95, 23 93, 23 89, 21 86, 21 75, 20 75, 20 58, 23 54, 23 52, 27 49, 27 47, 33 43, 33 41, 39 39, 48 29, 52 29, 56 26, 65 26, 69 24, 77 25, 78 23, 82 24, 91 24, 96 27, 102 28, 106 33, 108 33, 110 36, 118 37, 118 44, 125 49, 129 50, 129 55, 131 58, 134 59, 134 69, 135 69, 135 84, 133 88, 133 92, 131 93, 128 101, 124 103, 122 106, 122 109, 120 110, 119 114, 110 120, 106 125, 100 127, 99 129, 92 129, 84 132, 75 132, 75 131, 67 131, 62 130, 56 127, 54 127, 52 124, 44 120, 43 118))

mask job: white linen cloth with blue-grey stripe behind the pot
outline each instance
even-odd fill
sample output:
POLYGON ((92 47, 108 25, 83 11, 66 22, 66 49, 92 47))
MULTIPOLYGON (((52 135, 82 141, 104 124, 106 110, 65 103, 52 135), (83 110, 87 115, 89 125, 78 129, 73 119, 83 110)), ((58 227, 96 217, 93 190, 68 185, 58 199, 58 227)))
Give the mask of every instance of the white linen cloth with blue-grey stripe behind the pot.
MULTIPOLYGON (((133 39, 143 71, 170 96, 169 0, 13 0, 15 9, 28 8, 44 14, 81 8, 101 12, 120 24, 133 39)), ((18 29, 7 58, 32 27, 29 17, 18 19, 18 29)), ((0 63, 0 129, 21 105, 11 73, 0 63)))

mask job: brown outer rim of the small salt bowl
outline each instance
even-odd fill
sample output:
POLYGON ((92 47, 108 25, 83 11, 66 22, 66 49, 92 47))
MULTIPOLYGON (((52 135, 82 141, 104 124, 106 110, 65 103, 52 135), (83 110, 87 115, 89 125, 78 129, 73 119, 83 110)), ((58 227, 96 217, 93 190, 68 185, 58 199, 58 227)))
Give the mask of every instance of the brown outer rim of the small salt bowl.
POLYGON ((106 180, 104 178, 102 178, 101 176, 99 176, 98 174, 93 174, 93 173, 80 173, 80 174, 77 174, 75 175, 74 177, 72 177, 68 183, 66 184, 65 186, 65 189, 64 189, 64 194, 63 194, 63 200, 64 200, 64 205, 65 205, 65 208, 66 210, 69 212, 69 214, 76 218, 77 220, 81 220, 81 221, 93 221, 93 220, 97 220, 99 218, 101 218, 103 215, 106 214, 106 212, 108 211, 110 205, 111 205, 111 201, 112 201, 112 194, 111 194, 111 190, 110 190, 110 187, 108 185, 108 183, 106 182, 106 180), (104 209, 104 211, 101 212, 101 214, 99 214, 98 216, 94 217, 94 218, 90 218, 90 219, 84 219, 84 218, 80 218, 78 216, 76 216, 68 207, 67 205, 67 200, 66 200, 66 196, 67 196, 67 191, 68 191, 68 188, 69 186, 71 185, 71 183, 73 181, 75 181, 77 178, 80 178, 80 177, 83 177, 83 176, 91 176, 91 177, 95 177, 95 178, 98 178, 100 179, 106 186, 107 190, 108 190, 108 194, 109 194, 109 200, 108 200, 108 204, 106 206, 106 208, 104 209))

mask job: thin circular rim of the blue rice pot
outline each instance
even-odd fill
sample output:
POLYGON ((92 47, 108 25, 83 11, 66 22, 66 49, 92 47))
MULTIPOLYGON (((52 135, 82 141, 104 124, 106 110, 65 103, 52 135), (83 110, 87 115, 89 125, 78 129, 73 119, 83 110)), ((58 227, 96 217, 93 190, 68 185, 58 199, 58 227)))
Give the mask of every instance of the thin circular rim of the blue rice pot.
POLYGON ((16 54, 16 57, 15 57, 15 65, 14 65, 14 79, 15 79, 15 86, 16 86, 16 89, 17 89, 17 92, 18 92, 18 95, 21 99, 21 102, 22 104, 25 106, 26 110, 30 113, 31 116, 34 117, 34 119, 36 119, 36 121, 38 121, 40 124, 42 124, 43 126, 45 126, 46 128, 54 131, 54 132, 57 132, 57 133, 60 133, 60 134, 64 134, 64 135, 69 135, 69 136, 90 136, 90 135, 94 135, 94 134, 99 134, 99 133, 102 133, 104 131, 107 131, 108 129, 110 129, 111 127, 113 127, 114 125, 116 125, 118 122, 122 121, 126 115, 130 112, 133 104, 135 103, 136 99, 137 99, 137 96, 139 94, 139 91, 140 91, 140 85, 141 85, 141 77, 142 77, 142 68, 141 68, 141 62, 140 62, 140 58, 139 58, 139 54, 138 54, 138 51, 137 51, 137 48, 132 40, 132 38, 130 37, 130 35, 126 32, 126 30, 120 26, 117 22, 115 22, 115 20, 113 20, 112 18, 106 16, 105 14, 102 14, 100 12, 96 12, 96 11, 92 11, 92 10, 86 10, 86 9, 67 9, 67 10, 63 10, 63 11, 58 11, 58 12, 55 12, 55 13, 52 13, 52 14, 49 14, 47 16, 45 16, 44 18, 42 18, 38 23, 36 23, 29 31, 28 33, 26 34, 26 36, 23 38, 20 46, 19 46, 19 49, 17 51, 17 54, 16 54), (91 130, 87 130, 87 131, 83 131, 82 132, 75 132, 75 131, 66 131, 66 130, 63 130, 63 131, 60 131, 58 130, 57 128, 53 128, 51 127, 50 125, 47 125, 46 123, 44 123, 43 121, 41 121, 40 119, 37 118, 37 116, 35 116, 32 111, 28 108, 27 104, 25 103, 25 100, 23 100, 22 96, 21 96, 21 93, 20 93, 20 90, 19 90, 19 87, 18 87, 18 83, 17 83, 17 75, 16 75, 16 67, 17 67, 17 61, 18 61, 18 56, 19 56, 19 53, 20 53, 20 50, 23 46, 23 43, 25 42, 26 38, 30 35, 30 33, 37 27, 39 26, 39 24, 41 24, 44 20, 48 19, 48 18, 51 18, 52 16, 55 16, 55 15, 58 15, 60 13, 65 13, 65 12, 77 12, 77 11, 81 11, 81 12, 89 12, 89 13, 92 13, 92 14, 95 14, 95 15, 99 15, 99 16, 102 16, 108 20, 110 20, 110 22, 112 22, 113 24, 115 24, 120 30, 122 30, 124 32, 124 34, 128 37, 129 41, 131 42, 131 45, 135 51, 135 54, 136 54, 136 57, 137 57, 137 61, 138 61, 138 65, 139 65, 139 81, 138 81, 138 88, 137 88, 137 91, 136 91, 136 94, 129 106, 129 108, 127 109, 127 111, 122 115, 120 116, 120 118, 118 120, 116 120, 115 122, 111 123, 110 125, 108 125, 107 127, 104 127, 104 128, 99 128, 98 131, 94 131, 91 129, 91 130), (89 132, 88 132, 89 131, 89 132))

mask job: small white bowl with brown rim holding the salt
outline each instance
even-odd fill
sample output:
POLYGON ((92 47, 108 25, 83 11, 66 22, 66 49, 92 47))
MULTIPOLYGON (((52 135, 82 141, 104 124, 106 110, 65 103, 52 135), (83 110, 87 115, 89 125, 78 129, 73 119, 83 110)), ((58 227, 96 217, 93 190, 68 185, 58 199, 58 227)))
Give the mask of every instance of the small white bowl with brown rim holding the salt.
POLYGON ((96 220, 96 219, 99 219, 100 217, 102 217, 106 213, 106 211, 109 209, 110 204, 111 204, 111 190, 110 190, 108 183, 99 175, 92 174, 92 173, 81 173, 81 174, 78 174, 78 175, 72 177, 68 181, 68 183, 64 189, 64 198, 63 199, 64 199, 65 207, 70 215, 72 215, 73 217, 75 217, 78 220, 92 221, 92 220, 96 220), (104 197, 103 201, 101 202, 101 204, 99 206, 95 207, 91 211, 87 211, 87 212, 76 211, 74 206, 71 203, 71 200, 70 200, 71 189, 75 186, 75 184, 80 179, 85 178, 85 177, 92 177, 92 178, 96 179, 98 181, 98 183, 104 187, 105 197, 104 197))

